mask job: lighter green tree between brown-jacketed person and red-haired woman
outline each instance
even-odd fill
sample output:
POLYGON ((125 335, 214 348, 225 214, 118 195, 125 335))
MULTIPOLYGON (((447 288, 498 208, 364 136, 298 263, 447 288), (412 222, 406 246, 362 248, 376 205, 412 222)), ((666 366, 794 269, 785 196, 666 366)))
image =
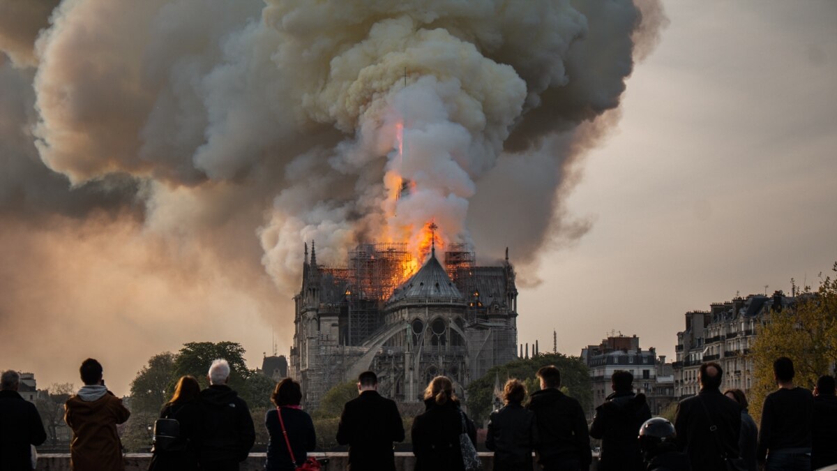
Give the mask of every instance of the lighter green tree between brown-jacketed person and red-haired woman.
POLYGON ((131 411, 156 414, 172 397, 177 377, 174 375, 174 354, 165 352, 154 355, 148 365, 131 381, 131 411))

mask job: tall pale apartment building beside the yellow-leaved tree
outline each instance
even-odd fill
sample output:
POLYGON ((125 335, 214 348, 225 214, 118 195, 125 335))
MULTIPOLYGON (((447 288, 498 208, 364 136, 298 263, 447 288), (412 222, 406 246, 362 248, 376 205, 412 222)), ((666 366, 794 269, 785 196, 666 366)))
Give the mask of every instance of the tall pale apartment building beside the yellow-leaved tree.
POLYGON ((749 392, 753 375, 749 353, 756 326, 771 310, 788 308, 793 301, 793 297, 777 291, 772 297, 751 294, 712 303, 708 311, 686 313, 686 329, 677 333, 677 360, 672 364, 675 396, 683 398, 700 391, 697 373, 701 363, 707 361, 717 362, 724 370, 721 389, 749 392))

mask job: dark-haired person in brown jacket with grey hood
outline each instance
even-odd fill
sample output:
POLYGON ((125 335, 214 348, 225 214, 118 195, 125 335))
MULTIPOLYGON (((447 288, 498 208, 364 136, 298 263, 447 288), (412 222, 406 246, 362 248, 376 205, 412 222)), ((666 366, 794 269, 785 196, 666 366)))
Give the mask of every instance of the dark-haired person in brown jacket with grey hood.
POLYGON ((73 431, 69 465, 73 471, 123 471, 116 425, 128 420, 131 411, 105 387, 98 361, 88 358, 79 371, 85 386, 64 403, 64 422, 73 431))

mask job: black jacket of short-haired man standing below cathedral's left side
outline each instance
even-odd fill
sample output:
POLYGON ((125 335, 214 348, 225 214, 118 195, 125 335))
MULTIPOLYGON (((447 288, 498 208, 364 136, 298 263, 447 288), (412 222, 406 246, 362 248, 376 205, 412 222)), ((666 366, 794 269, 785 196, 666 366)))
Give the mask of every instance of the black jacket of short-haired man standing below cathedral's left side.
POLYGON ((363 391, 343 407, 337 443, 349 446, 352 471, 395 471, 393 442, 403 442, 404 426, 395 401, 363 391))

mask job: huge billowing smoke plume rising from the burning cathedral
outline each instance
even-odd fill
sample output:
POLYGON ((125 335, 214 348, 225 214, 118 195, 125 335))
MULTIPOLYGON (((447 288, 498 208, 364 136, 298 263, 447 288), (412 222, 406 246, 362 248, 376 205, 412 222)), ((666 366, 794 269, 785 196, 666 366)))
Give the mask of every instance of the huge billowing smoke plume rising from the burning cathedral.
MULTIPOLYGON (((81 249, 112 234, 131 253, 102 250, 141 284, 213 287, 198 306, 232 289, 219 279, 252 305, 290 298, 302 241, 338 263, 358 241, 414 244, 435 220, 445 241, 526 264, 577 239, 590 223, 562 195, 665 24, 650 0, 0 0, 0 18, 0 237, 66 290, 56 273, 100 274, 81 249), (80 250, 43 255, 61 240, 80 250)), ((108 294, 146 312, 128 285, 108 294)), ((18 300, 37 289, 14 286, 18 300)), ((80 323, 102 322, 72 299, 80 323)), ((3 303, 3 327, 28 309, 3 303)), ((287 308, 263 314, 286 328, 287 308)))

